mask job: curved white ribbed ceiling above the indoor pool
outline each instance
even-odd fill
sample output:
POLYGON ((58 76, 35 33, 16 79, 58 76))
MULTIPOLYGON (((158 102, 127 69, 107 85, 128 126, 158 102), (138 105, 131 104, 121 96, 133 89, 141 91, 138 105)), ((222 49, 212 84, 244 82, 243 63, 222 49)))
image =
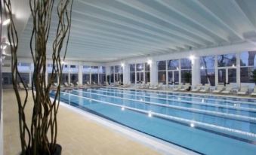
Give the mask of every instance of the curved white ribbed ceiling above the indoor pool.
MULTIPOLYGON (((250 41, 255 8, 255 0, 74 0, 66 57, 110 62, 250 41)), ((56 14, 52 24, 51 38, 56 14)), ((31 26, 29 19, 19 56, 30 56, 31 26)))

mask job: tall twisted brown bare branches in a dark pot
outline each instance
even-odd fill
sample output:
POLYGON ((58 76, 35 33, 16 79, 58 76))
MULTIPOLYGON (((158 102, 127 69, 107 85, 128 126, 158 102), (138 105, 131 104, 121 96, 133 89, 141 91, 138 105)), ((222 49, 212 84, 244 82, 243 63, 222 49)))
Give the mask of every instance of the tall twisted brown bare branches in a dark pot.
POLYGON ((3 0, 4 13, 11 20, 8 25, 8 41, 11 47, 11 71, 14 93, 17 98, 21 154, 60 154, 61 147, 57 144, 57 111, 60 99, 60 81, 62 79, 62 61, 66 56, 66 48, 69 42, 69 32, 71 26, 72 0, 29 0, 32 16, 32 35, 30 38, 31 59, 34 65, 32 74, 32 90, 28 90, 25 81, 20 76, 17 69, 17 50, 19 39, 14 25, 10 0, 3 0), (57 4, 56 4, 57 2, 57 4), (57 30, 54 31, 53 42, 49 42, 51 31, 51 16, 53 9, 57 9, 57 30), (51 48, 48 46, 51 44, 51 48), (48 49, 52 49, 49 51, 48 49), (49 82, 45 80, 47 55, 51 52, 52 70, 49 82), (54 99, 50 99, 49 93, 54 79, 58 78, 58 87, 54 99), (21 92, 17 87, 17 82, 23 84, 25 91, 21 92), (26 117, 26 103, 28 93, 31 91, 33 105, 32 117, 26 117), (25 99, 21 93, 25 92, 25 99), (28 124, 31 123, 29 126, 28 124))

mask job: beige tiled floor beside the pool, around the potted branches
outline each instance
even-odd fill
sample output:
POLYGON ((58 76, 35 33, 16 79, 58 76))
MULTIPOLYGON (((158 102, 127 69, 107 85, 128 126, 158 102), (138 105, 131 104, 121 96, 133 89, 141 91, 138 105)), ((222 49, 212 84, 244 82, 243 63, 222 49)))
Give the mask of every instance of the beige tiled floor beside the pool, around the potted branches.
MULTIPOLYGON (((23 94, 24 96, 24 94, 23 94)), ((29 94, 27 111, 32 108, 29 94)), ((4 154, 20 152, 17 102, 13 91, 4 91, 4 154)), ((29 115, 27 116, 30 117, 29 115)), ((58 138, 62 154, 158 154, 155 150, 125 137, 119 132, 100 126, 93 121, 60 106, 58 113, 58 138)))

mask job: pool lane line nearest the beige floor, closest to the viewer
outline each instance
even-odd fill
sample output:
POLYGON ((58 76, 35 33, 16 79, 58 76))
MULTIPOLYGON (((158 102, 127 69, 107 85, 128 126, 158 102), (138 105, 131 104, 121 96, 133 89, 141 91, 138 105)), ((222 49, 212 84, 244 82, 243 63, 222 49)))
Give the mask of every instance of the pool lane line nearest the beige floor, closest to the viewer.
MULTIPOLYGON (((63 92, 61 92, 61 93, 63 93, 63 92)), ((78 98, 87 99, 87 100, 91 100, 91 101, 94 101, 94 102, 100 102, 100 103, 103 103, 103 104, 106 104, 106 105, 112 105, 112 106, 115 106, 115 107, 119 107, 120 109, 125 108, 127 110, 135 111, 135 112, 138 112, 138 113, 141 113, 141 114, 146 114, 146 115, 149 114, 149 111, 143 111, 143 110, 140 110, 140 109, 137 109, 137 108, 130 108, 130 107, 122 106, 122 105, 116 105, 116 104, 113 104, 113 103, 110 103, 110 102, 103 102, 103 101, 100 101, 100 100, 97 100, 97 99, 90 99, 90 98, 87 98, 87 97, 84 97, 84 96, 77 96, 77 95, 74 95, 74 94, 71 94, 71 93, 68 93, 68 94, 70 96, 76 96, 78 98)), ((76 105, 78 105, 78 103, 76 103, 76 105)), ((233 139, 236 139, 236 140, 239 140, 239 141, 244 141, 246 143, 256 145, 256 141, 241 138, 241 137, 237 137, 236 135, 229 135, 227 133, 217 132, 217 131, 214 131, 214 130, 211 130, 211 129, 219 129, 219 130, 224 130, 226 132, 233 132, 233 133, 236 133, 236 134, 256 138, 256 134, 251 133, 251 132, 243 132, 241 130, 230 129, 230 128, 227 128, 227 127, 216 126, 216 125, 208 124, 208 123, 202 123, 202 122, 198 122, 198 121, 195 121, 195 120, 187 120, 187 119, 183 119, 183 118, 179 118, 179 117, 171 117, 171 116, 167 116, 165 114, 154 113, 153 111, 151 111, 151 114, 153 114, 152 117, 158 117, 158 118, 163 119, 163 120, 168 120, 168 121, 172 121, 172 122, 175 122, 175 123, 184 124, 186 126, 190 126, 190 124, 193 123, 195 125, 194 128, 196 128, 196 129, 201 129, 205 132, 210 131, 211 133, 215 133, 217 135, 223 135, 227 138, 233 138, 233 139), (207 129, 203 126, 211 128, 211 129, 207 129)))

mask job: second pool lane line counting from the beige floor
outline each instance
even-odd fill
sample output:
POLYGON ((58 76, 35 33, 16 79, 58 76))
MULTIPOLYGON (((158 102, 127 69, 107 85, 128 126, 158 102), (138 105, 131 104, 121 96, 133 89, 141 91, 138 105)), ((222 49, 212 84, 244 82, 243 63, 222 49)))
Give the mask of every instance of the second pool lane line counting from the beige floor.
MULTIPOLYGON (((79 92, 79 90, 73 90, 73 91, 79 92)), ((83 91, 80 91, 80 92, 81 93, 89 93, 89 92, 83 92, 83 91)), ((142 102, 143 104, 147 104, 147 105, 156 105, 156 106, 162 106, 165 108, 174 108, 174 109, 177 109, 180 111, 191 111, 194 113, 206 114, 206 115, 210 115, 210 116, 214 116, 214 117, 221 117, 221 118, 226 117, 226 118, 229 118, 230 120, 238 120, 238 121, 256 124, 256 117, 247 117, 247 116, 236 115, 236 114, 226 114, 226 113, 221 113, 221 112, 217 112, 217 111, 205 111, 205 110, 196 109, 196 108, 185 108, 185 107, 180 107, 177 105, 166 105, 166 104, 164 105, 164 104, 160 104, 160 103, 156 103, 156 102, 147 102, 147 101, 140 101, 140 100, 135 100, 135 99, 125 99, 125 98, 121 98, 118 96, 107 96, 107 95, 98 94, 98 93, 91 93, 91 94, 98 95, 98 96, 106 96, 106 97, 111 97, 111 98, 116 98, 116 99, 130 100, 130 101, 134 101, 134 102, 142 102), (236 117, 236 118, 234 118, 234 117, 236 117), (252 121, 254 121, 254 122, 252 122, 252 121)))

